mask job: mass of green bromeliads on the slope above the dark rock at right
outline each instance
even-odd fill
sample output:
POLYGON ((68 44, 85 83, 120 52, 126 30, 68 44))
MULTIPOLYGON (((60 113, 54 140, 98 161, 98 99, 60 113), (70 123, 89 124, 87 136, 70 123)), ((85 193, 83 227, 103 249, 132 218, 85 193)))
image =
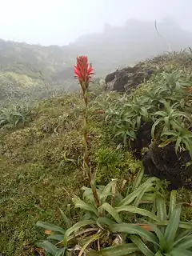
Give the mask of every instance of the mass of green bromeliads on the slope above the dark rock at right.
POLYGON ((188 150, 192 158, 190 68, 170 67, 168 72, 156 74, 143 90, 139 88, 133 95, 119 98, 114 106, 106 107, 106 122, 113 126, 115 136, 122 137, 124 146, 137 139, 141 124, 149 122, 153 124, 152 138, 162 142, 161 146, 176 142, 175 151, 188 150))

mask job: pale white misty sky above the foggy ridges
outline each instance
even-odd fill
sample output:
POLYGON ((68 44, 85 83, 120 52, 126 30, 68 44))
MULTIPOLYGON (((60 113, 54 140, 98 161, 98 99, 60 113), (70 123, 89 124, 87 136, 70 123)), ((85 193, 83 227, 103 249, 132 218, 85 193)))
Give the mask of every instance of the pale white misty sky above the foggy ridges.
POLYGON ((2 0, 0 38, 65 45, 79 35, 102 31, 104 23, 170 16, 192 31, 192 0, 2 0))

